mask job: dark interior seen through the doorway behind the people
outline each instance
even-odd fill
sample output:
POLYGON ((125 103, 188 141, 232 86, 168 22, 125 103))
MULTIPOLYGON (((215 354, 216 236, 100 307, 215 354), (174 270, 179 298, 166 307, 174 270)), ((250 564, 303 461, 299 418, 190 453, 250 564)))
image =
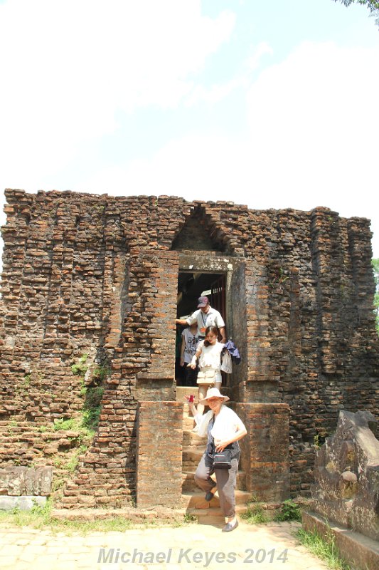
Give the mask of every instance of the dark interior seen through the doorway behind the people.
MULTIPOLYGON (((178 275, 177 317, 186 318, 197 309, 198 298, 206 295, 210 306, 220 311, 225 323, 226 318, 226 278, 225 273, 202 273, 201 271, 180 271, 178 275)), ((176 330, 176 365, 175 378, 177 385, 183 385, 184 371, 180 366, 181 332, 183 326, 176 330)))

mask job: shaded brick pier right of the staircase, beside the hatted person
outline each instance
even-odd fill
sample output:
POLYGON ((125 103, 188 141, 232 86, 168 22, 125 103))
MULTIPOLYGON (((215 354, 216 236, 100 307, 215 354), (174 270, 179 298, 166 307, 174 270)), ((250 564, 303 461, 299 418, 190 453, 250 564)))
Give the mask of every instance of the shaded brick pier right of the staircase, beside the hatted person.
POLYGON ((241 466, 246 489, 258 501, 289 498, 289 406, 287 404, 235 404, 247 429, 241 442, 241 466))

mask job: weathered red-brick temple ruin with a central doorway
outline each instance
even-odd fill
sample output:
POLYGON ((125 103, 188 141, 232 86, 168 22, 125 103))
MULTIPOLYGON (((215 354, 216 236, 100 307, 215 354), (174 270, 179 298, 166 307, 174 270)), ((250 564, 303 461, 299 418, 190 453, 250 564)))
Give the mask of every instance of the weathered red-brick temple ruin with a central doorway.
POLYGON ((314 444, 338 411, 378 418, 368 219, 168 196, 6 190, 6 200, 0 468, 58 469, 80 436, 52 425, 79 418, 83 388, 100 385, 91 374, 108 371, 61 506, 181 504, 175 318, 203 291, 242 355, 225 390, 247 425, 250 495, 307 496, 314 444))

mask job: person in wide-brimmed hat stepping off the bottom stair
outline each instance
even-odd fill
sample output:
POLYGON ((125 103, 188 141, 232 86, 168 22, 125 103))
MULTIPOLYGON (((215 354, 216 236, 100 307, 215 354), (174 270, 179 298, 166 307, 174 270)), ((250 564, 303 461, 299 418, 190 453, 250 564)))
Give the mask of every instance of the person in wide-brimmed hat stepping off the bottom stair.
POLYGON ((198 425, 198 435, 208 435, 208 443, 198 464, 195 481, 205 491, 205 500, 211 501, 217 487, 220 507, 225 517, 223 532, 237 528, 235 517, 235 480, 237 477, 238 461, 240 460, 240 445, 238 440, 246 435, 245 425, 237 414, 227 408, 224 403, 229 400, 218 388, 210 388, 207 395, 199 403, 206 404, 210 410, 205 415, 198 413, 196 406, 189 396, 184 397, 198 425), (229 457, 221 457, 224 450, 230 450, 229 457), (226 459, 226 462, 223 461, 226 459), (215 473, 216 484, 210 475, 215 473))

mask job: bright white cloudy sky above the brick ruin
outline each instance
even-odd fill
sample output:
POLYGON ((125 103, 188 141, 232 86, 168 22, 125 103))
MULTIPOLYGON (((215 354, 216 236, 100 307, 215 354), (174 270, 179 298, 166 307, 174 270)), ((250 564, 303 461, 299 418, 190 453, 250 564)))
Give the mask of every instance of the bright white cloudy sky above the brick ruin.
MULTIPOLYGON (((0 0, 0 190, 372 220, 379 28, 332 0, 0 0)), ((5 217, 1 214, 1 224, 5 217)))

